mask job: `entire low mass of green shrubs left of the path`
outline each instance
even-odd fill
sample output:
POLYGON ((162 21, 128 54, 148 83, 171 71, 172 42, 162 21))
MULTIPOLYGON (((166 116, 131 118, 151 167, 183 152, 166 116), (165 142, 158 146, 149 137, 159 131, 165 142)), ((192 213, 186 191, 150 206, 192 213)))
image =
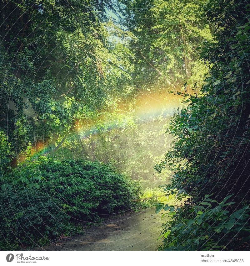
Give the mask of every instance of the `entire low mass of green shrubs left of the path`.
POLYGON ((113 167, 40 157, 1 180, 1 249, 44 244, 79 222, 136 207, 141 187, 113 167))

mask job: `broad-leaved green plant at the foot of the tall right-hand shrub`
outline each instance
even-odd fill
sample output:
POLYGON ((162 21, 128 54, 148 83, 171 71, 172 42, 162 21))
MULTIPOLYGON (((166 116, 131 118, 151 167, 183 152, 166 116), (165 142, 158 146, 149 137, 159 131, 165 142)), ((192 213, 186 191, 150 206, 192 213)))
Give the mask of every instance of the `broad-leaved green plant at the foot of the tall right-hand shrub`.
POLYGON ((249 206, 235 206, 227 196, 218 203, 205 195, 205 199, 185 209, 161 205, 167 211, 163 217, 168 222, 163 226, 160 250, 237 250, 249 240, 249 206))

